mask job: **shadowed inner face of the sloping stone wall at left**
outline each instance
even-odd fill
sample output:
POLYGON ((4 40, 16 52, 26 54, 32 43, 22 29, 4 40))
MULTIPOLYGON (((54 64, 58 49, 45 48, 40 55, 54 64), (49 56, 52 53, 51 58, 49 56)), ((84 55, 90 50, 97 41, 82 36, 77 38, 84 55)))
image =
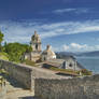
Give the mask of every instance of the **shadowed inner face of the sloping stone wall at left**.
POLYGON ((0 65, 5 69, 10 76, 15 79, 26 88, 31 88, 32 86, 32 69, 24 65, 16 65, 10 61, 0 60, 0 65))

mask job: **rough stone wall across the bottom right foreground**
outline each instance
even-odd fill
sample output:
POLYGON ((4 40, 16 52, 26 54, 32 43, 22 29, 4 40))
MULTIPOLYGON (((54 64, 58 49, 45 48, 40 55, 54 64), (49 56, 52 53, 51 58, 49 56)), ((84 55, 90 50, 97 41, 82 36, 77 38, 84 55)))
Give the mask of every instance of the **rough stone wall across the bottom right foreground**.
POLYGON ((98 99, 99 74, 79 79, 36 79, 34 95, 40 99, 98 99))

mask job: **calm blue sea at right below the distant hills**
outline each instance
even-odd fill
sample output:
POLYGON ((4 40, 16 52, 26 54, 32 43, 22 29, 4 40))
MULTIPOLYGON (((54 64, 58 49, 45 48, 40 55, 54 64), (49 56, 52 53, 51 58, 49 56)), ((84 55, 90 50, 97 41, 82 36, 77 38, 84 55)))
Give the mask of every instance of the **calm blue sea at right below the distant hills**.
POLYGON ((77 61, 94 73, 99 73, 99 57, 75 57, 77 61))

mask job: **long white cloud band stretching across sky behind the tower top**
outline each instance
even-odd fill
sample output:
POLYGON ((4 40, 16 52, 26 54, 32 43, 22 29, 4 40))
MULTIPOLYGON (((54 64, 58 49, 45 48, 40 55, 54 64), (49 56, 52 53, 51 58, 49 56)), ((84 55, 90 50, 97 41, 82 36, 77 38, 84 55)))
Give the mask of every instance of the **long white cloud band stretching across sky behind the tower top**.
POLYGON ((88 32, 93 33, 99 31, 99 20, 86 20, 86 22, 65 22, 42 24, 36 22, 25 23, 0 23, 0 28, 5 34, 8 42, 29 42, 34 30, 44 38, 52 38, 61 34, 74 34, 88 32))

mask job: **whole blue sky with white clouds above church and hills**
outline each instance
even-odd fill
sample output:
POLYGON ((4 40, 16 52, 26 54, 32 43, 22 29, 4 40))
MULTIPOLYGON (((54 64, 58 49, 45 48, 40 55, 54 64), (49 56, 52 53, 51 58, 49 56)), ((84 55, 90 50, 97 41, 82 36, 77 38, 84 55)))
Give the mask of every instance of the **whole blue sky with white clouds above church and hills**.
POLYGON ((99 0, 0 0, 3 42, 29 44, 34 30, 42 48, 99 51, 99 0))

